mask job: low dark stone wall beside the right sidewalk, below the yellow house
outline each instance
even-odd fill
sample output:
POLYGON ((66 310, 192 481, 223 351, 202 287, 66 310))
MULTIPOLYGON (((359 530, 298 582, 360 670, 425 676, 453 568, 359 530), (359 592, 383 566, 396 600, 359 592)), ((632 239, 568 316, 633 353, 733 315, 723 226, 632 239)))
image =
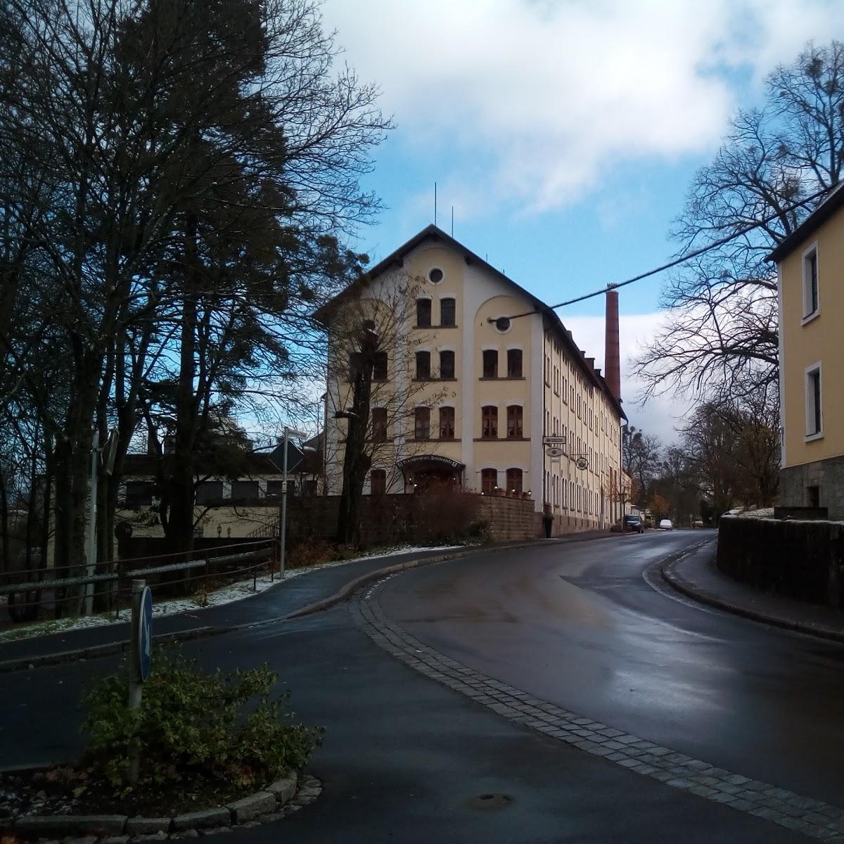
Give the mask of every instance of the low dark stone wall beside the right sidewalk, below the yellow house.
POLYGON ((724 516, 718 568, 766 592, 844 607, 844 524, 724 516))

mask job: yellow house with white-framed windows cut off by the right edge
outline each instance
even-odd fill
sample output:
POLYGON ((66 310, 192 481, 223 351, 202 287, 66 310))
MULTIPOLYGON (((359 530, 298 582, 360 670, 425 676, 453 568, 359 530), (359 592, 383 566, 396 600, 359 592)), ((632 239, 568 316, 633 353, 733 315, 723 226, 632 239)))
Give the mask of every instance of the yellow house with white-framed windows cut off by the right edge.
POLYGON ((769 259, 779 289, 781 502, 844 519, 844 190, 769 259))

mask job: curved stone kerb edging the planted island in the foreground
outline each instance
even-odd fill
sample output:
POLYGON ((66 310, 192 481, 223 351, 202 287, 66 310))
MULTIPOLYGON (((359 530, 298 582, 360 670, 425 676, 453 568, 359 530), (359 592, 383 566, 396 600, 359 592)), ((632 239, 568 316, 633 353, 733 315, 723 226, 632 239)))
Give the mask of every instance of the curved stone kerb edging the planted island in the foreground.
POLYGON ((164 818, 128 818, 126 815, 44 815, 19 818, 9 828, 15 836, 44 841, 83 836, 70 841, 86 844, 127 844, 130 841, 176 841, 228 832, 232 826, 249 829, 281 820, 313 803, 322 784, 313 776, 290 776, 273 782, 263 791, 235 800, 227 806, 201 809, 164 818))

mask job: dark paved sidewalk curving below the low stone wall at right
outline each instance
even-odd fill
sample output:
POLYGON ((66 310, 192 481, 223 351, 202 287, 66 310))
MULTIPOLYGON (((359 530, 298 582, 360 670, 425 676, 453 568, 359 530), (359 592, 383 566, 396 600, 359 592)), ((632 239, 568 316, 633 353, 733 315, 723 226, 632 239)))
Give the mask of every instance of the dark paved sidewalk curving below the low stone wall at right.
POLYGON ((663 578, 679 592, 718 609, 787 630, 844 641, 844 612, 783 598, 734 580, 715 567, 716 540, 663 565, 663 578))

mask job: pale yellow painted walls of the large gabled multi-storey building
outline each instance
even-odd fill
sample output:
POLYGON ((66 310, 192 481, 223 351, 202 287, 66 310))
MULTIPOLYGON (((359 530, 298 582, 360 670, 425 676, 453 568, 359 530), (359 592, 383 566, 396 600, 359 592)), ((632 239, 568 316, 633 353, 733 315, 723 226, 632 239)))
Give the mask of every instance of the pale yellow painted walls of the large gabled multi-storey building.
MULTIPOLYGON (((541 329, 543 317, 537 316, 514 320, 506 332, 498 331, 490 319, 530 311, 533 309, 532 303, 518 295, 517 290, 509 293, 511 288, 490 276, 484 268, 476 264, 469 266, 463 253, 450 247, 434 243, 418 246, 404 258, 401 268, 384 273, 373 282, 372 295, 378 295, 379 289, 387 289, 389 284, 395 284, 396 279, 408 277, 416 279, 420 285, 420 295, 430 297, 433 302, 432 327, 419 329, 412 323, 408 324, 410 343, 430 351, 431 371, 435 377, 437 353, 442 348, 452 349, 455 353, 457 380, 416 385, 419 389, 414 392, 411 405, 430 403, 431 440, 414 441, 412 406, 408 407, 405 424, 397 425, 395 430, 390 431, 392 442, 381 447, 373 463, 373 468, 382 468, 387 472, 388 490, 398 492, 402 488, 400 473, 395 471, 394 466, 398 450, 401 450, 403 457, 414 453, 430 453, 466 463, 464 484, 469 490, 480 490, 481 471, 484 468, 495 468, 498 471, 501 486, 506 484, 507 468, 521 468, 524 472, 523 490, 532 491, 538 510, 542 509, 544 503, 544 471, 547 471, 549 477, 552 474, 559 479, 565 477, 571 483, 572 495, 566 496, 565 507, 561 496, 557 500, 555 513, 562 519, 561 524, 569 529, 598 527, 602 522, 604 526, 609 526, 619 515, 614 513, 609 490, 610 472, 617 472, 619 468, 619 417, 602 390, 593 384, 571 355, 564 353, 559 329, 553 327, 544 332, 541 329), (426 280, 430 269, 435 267, 444 273, 440 284, 430 284, 426 280), (456 300, 457 327, 454 328, 438 325, 438 302, 445 295, 456 300), (468 305, 469 302, 472 304, 468 305), (470 320, 471 324, 468 323, 470 320), (419 338, 423 339, 419 341, 419 338), (464 343, 472 344, 472 349, 465 355, 464 343), (540 348, 534 349, 537 344, 540 348), (522 378, 509 378, 506 375, 507 350, 512 348, 522 350, 522 378), (498 378, 484 378, 484 349, 498 351, 498 378), (556 394, 553 384, 544 387, 544 393, 542 388, 534 389, 534 381, 544 379, 541 361, 546 351, 555 361, 554 365, 560 367, 560 372, 565 371, 565 399, 556 394), (468 378, 472 381, 471 385, 467 383, 468 378), (576 397, 581 400, 579 416, 576 403, 571 404, 570 401, 570 385, 575 387, 576 397), (555 465, 544 457, 542 438, 553 431, 545 430, 543 395, 546 406, 555 408, 552 417, 558 416, 560 425, 565 430, 571 430, 574 435, 567 446, 572 457, 563 457, 555 465), (455 408, 457 441, 441 442, 436 439, 439 421, 437 408, 443 404, 455 408), (498 408, 499 438, 495 441, 483 440, 481 437, 481 408, 489 404, 498 408), (506 438, 507 406, 510 404, 522 406, 522 441, 506 438), (584 470, 578 470, 574 465, 573 453, 576 451, 577 437, 582 441, 582 453, 591 458, 588 468, 584 470), (391 473, 394 479, 392 486, 391 473), (579 499, 573 494, 577 489, 582 490, 579 499)), ((411 312, 414 313, 414 309, 411 312)), ((394 377, 396 373, 391 371, 391 379, 394 377)), ((387 386, 387 390, 391 388, 387 386)), ((344 392, 342 385, 339 389, 344 392)), ((333 398, 333 401, 339 400, 339 396, 333 398)), ((377 400, 372 404, 377 406, 377 400)), ((337 493, 342 480, 342 439, 346 423, 331 419, 332 408, 329 408, 328 415, 328 491, 337 493), (332 429, 338 440, 334 446, 331 446, 332 429)), ((548 500, 551 500, 550 495, 548 500)), ((619 506, 616 505, 615 509, 619 509, 619 506)))

